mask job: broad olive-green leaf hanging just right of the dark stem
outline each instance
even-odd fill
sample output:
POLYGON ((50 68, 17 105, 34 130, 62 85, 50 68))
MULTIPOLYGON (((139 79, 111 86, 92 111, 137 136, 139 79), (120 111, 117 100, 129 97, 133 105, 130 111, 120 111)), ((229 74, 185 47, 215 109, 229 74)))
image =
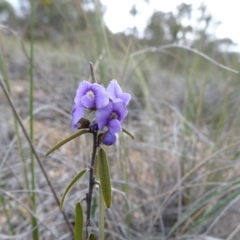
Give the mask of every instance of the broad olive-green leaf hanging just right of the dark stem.
POLYGON ((107 154, 103 148, 98 151, 98 169, 103 199, 107 208, 112 205, 112 188, 107 154))

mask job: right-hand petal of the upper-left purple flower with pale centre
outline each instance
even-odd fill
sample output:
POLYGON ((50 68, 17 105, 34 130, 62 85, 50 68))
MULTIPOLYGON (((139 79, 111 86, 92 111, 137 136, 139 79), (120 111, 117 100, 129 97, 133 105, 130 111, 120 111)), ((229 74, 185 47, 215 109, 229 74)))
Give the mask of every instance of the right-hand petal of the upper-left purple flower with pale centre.
POLYGON ((92 85, 92 92, 94 93, 94 101, 96 108, 103 108, 109 103, 108 93, 105 88, 97 83, 92 85))

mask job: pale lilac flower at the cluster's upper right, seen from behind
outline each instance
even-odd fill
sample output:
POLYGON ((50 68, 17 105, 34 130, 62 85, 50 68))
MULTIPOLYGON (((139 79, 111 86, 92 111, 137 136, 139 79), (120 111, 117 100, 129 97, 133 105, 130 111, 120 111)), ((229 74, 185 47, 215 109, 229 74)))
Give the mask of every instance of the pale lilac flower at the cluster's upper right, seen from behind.
POLYGON ((121 99, 126 105, 131 99, 131 95, 128 93, 123 93, 121 87, 118 85, 117 80, 113 79, 106 91, 109 93, 109 98, 114 102, 117 99, 121 99))

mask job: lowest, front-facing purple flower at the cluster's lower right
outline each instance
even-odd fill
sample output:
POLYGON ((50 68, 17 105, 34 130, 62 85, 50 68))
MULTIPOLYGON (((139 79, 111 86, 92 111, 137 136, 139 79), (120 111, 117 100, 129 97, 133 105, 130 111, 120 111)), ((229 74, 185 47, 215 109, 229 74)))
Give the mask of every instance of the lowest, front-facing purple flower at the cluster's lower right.
POLYGON ((109 104, 96 111, 96 123, 98 128, 103 130, 104 127, 108 128, 102 142, 106 145, 112 145, 116 142, 116 133, 122 131, 121 123, 127 116, 128 110, 126 104, 121 100, 116 102, 109 102, 109 104))

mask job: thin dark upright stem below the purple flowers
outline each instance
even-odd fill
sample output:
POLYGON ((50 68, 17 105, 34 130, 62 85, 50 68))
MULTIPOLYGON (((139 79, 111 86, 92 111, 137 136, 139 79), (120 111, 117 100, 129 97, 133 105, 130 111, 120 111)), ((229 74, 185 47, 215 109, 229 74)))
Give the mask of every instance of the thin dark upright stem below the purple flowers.
POLYGON ((91 160, 91 166, 90 166, 90 174, 89 174, 89 188, 88 188, 88 193, 86 194, 86 201, 87 201, 87 220, 86 220, 86 236, 88 238, 88 227, 91 226, 91 202, 92 202, 92 192, 93 192, 93 187, 95 184, 95 177, 93 175, 93 170, 94 170, 94 162, 96 158, 96 152, 97 152, 97 147, 98 147, 98 142, 97 142, 97 131, 93 131, 93 150, 92 150, 92 160, 91 160))

